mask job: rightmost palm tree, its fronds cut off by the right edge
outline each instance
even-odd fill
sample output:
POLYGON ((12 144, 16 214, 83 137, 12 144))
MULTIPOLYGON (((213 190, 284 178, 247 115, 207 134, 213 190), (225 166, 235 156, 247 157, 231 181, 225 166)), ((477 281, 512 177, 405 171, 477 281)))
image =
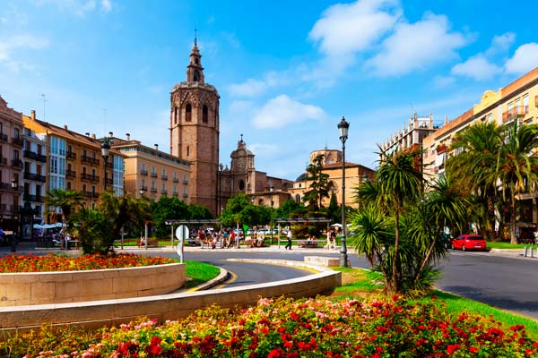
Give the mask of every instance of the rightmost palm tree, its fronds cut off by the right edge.
POLYGON ((503 127, 504 145, 499 150, 496 171, 503 199, 508 198, 510 243, 516 237, 516 195, 533 190, 538 182, 538 158, 533 155, 538 147, 538 125, 519 125, 517 121, 503 127))

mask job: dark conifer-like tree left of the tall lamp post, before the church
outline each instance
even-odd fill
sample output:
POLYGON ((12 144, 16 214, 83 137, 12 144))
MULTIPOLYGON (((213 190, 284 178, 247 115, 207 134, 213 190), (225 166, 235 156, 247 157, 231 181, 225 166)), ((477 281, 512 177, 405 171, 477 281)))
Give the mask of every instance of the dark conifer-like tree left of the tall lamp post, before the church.
POLYGON ((304 202, 308 203, 311 209, 323 208, 323 199, 329 197, 329 192, 333 183, 329 182, 329 175, 323 173, 323 154, 318 154, 313 163, 307 167, 307 177, 305 181, 309 183, 309 189, 303 195, 304 202))

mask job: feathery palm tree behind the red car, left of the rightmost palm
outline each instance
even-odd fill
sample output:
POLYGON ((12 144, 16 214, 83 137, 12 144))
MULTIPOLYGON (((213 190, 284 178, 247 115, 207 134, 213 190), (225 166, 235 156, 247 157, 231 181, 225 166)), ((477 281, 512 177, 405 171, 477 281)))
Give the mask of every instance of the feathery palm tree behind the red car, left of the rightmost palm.
POLYGON ((459 132, 450 149, 460 152, 447 160, 447 175, 461 192, 467 192, 470 217, 482 234, 494 237, 499 220, 497 158, 503 146, 501 128, 495 123, 473 124, 459 132))

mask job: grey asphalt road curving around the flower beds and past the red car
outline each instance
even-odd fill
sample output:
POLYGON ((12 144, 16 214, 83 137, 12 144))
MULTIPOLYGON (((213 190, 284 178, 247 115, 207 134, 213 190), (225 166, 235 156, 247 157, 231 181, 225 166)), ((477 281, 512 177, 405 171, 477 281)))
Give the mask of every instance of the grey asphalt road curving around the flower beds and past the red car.
MULTIPOLYGON (((20 247, 19 251, 25 251, 20 247)), ((29 249, 29 251, 32 251, 29 249)), ((134 250, 147 254, 166 254, 177 257, 168 249, 134 250)), ((35 252, 35 251, 34 251, 35 252)), ((0 247, 0 255, 8 254, 9 248, 0 247)), ((309 273, 297 268, 265 266, 226 261, 229 258, 259 258, 278 260, 304 260, 307 255, 339 257, 338 251, 323 249, 295 249, 292 251, 271 248, 200 250, 187 248, 185 260, 200 260, 230 270, 232 276, 226 285, 241 286, 261 282, 272 282, 309 273)), ((364 258, 349 252, 351 266, 369 268, 364 258)), ((461 252, 451 251, 450 260, 441 266, 443 277, 438 288, 464 297, 488 303, 495 307, 514 311, 538 320, 538 259, 522 258, 518 253, 461 252)))

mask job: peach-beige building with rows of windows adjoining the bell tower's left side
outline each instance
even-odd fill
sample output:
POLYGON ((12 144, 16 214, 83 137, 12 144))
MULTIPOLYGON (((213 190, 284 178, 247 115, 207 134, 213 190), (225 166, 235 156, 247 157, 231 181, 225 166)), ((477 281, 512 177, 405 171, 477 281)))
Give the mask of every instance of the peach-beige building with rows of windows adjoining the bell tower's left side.
POLYGON ((191 164, 185 159, 172 156, 144 146, 140 141, 114 138, 112 148, 125 156, 125 190, 139 197, 151 200, 161 196, 177 196, 189 204, 191 202, 191 164))

